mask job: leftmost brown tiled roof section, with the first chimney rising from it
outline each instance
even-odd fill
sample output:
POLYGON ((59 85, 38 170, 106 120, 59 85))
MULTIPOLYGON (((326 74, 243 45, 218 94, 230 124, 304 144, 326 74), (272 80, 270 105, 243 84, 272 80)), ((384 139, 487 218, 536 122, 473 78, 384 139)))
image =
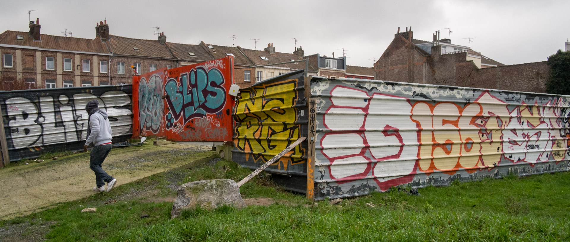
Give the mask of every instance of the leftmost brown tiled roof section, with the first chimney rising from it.
POLYGON ((41 41, 34 41, 28 32, 7 30, 0 34, 0 44, 22 45, 46 49, 62 49, 65 51, 84 51, 96 53, 109 53, 105 43, 100 39, 82 39, 78 37, 65 37, 55 35, 40 35, 41 41), (20 35, 23 40, 16 39, 20 35))

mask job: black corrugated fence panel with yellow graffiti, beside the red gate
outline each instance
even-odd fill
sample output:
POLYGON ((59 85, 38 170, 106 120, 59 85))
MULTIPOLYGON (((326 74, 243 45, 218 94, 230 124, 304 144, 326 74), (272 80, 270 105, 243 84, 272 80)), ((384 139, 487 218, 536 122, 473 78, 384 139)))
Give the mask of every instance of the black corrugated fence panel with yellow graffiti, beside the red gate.
MULTIPOLYGON (((257 169, 299 137, 307 136, 304 70, 290 72, 241 89, 233 115, 232 160, 257 169)), ((305 192, 307 142, 295 147, 266 169, 287 189, 305 192), (292 176, 292 177, 289 177, 292 176)))

